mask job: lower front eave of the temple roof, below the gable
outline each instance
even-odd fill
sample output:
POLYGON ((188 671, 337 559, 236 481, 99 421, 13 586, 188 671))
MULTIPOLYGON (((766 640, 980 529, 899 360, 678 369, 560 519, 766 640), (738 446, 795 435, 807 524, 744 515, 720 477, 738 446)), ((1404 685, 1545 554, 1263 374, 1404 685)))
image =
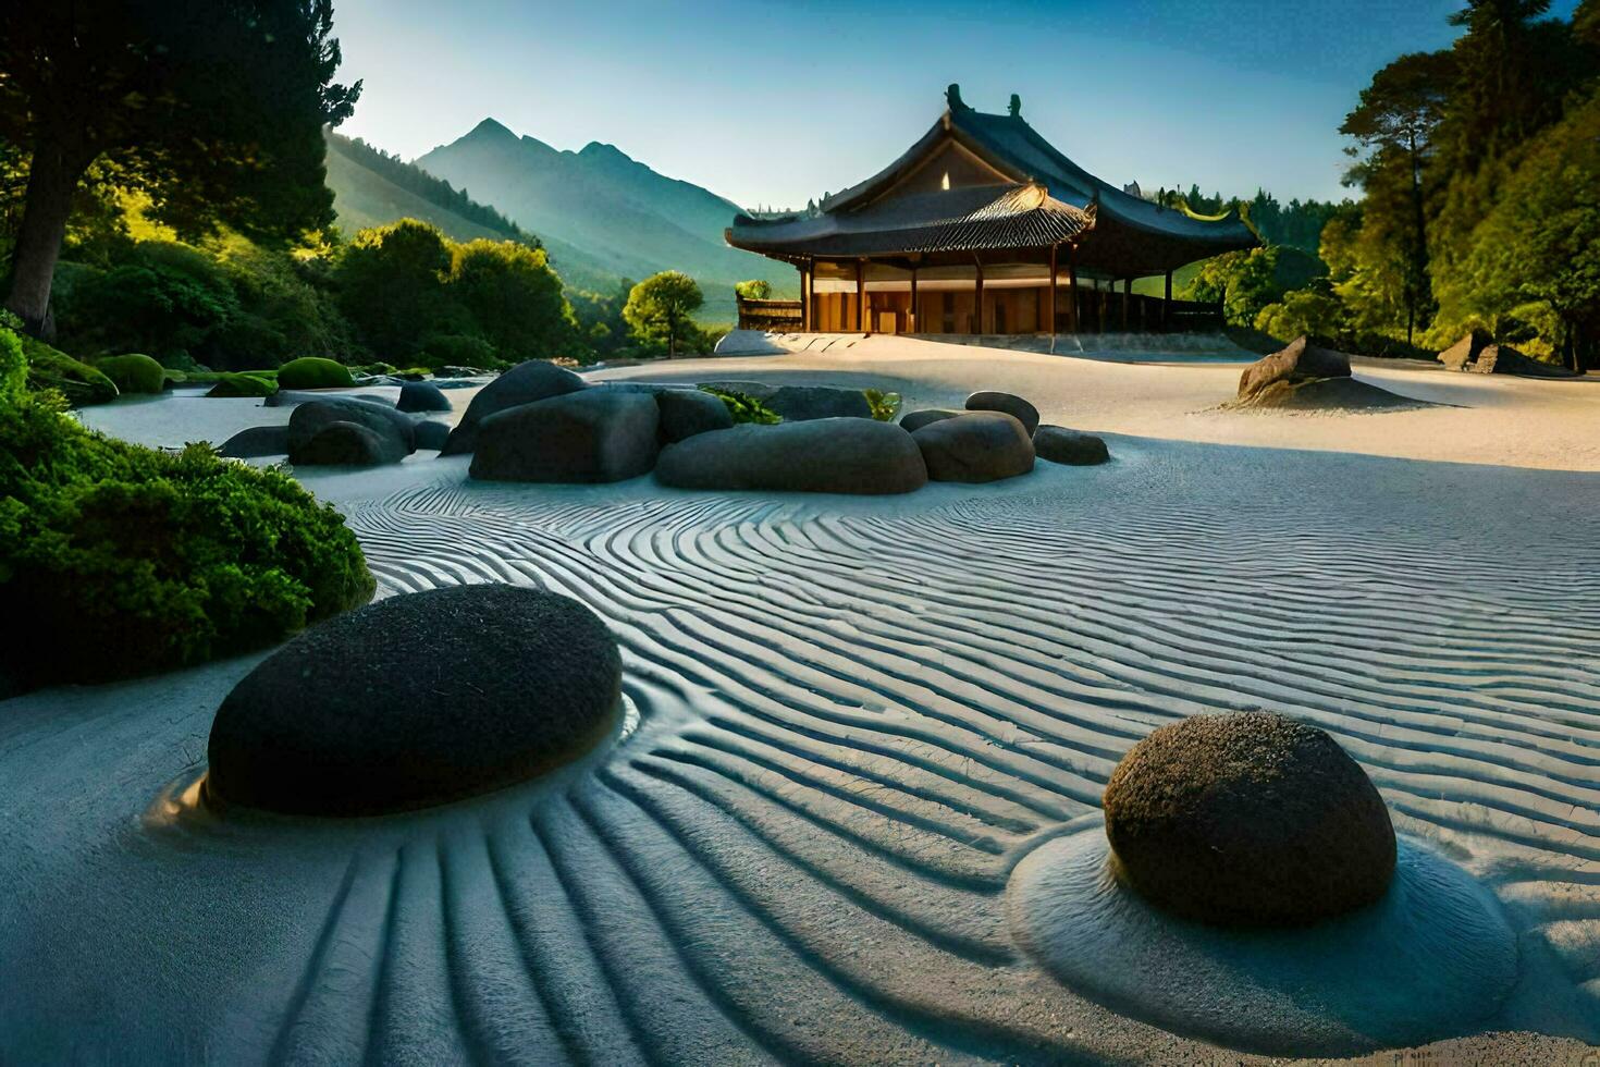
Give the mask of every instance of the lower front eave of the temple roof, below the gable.
POLYGON ((971 186, 894 197, 854 211, 763 221, 741 216, 728 242, 790 256, 888 256, 1054 245, 1091 222, 1091 211, 1053 200, 1042 186, 971 186))

